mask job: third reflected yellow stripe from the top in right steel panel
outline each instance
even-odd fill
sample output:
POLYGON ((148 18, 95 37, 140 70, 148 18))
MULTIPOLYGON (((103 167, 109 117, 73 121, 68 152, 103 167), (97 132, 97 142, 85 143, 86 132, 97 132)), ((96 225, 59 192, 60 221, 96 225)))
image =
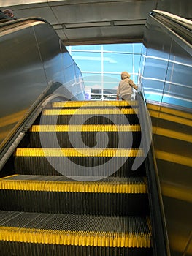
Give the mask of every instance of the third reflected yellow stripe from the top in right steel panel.
POLYGON ((161 127, 153 127, 153 133, 156 135, 161 135, 169 138, 174 138, 177 140, 184 140, 187 142, 192 142, 192 135, 188 135, 182 132, 176 132, 170 129, 164 129, 161 127))

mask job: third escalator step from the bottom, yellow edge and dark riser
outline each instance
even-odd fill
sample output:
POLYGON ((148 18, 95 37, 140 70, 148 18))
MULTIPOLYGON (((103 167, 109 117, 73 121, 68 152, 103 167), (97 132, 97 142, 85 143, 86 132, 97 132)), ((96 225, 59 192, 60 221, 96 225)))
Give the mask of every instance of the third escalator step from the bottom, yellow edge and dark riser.
POLYGON ((107 177, 145 176, 145 166, 131 170, 142 149, 114 148, 17 148, 15 172, 34 175, 107 177))

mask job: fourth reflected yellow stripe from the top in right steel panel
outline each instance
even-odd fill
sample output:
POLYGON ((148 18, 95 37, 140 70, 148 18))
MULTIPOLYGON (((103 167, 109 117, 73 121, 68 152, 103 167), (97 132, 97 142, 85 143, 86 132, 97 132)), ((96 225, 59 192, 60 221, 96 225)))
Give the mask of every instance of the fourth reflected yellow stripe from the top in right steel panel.
POLYGON ((160 151, 160 150, 155 150, 155 156, 157 159, 192 167, 191 157, 184 157, 184 156, 180 156, 179 154, 172 154, 172 153, 160 151))

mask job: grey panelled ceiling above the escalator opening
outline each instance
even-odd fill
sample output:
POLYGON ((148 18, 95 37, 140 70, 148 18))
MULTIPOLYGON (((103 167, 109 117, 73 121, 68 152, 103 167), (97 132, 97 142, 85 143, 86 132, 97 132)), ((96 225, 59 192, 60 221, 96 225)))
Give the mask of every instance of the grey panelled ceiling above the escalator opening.
POLYGON ((183 10, 180 0, 0 0, 0 9, 9 7, 15 18, 44 18, 65 45, 86 45, 142 42, 145 21, 151 10, 168 10, 191 18, 190 1, 182 1, 185 2, 183 10))

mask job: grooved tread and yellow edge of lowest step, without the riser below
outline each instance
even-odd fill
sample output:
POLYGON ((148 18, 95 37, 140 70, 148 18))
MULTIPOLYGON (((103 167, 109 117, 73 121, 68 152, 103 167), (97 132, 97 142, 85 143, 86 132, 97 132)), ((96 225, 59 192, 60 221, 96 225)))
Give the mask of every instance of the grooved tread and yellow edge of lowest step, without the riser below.
POLYGON ((0 241, 76 246, 151 247, 148 217, 0 211, 0 241))

